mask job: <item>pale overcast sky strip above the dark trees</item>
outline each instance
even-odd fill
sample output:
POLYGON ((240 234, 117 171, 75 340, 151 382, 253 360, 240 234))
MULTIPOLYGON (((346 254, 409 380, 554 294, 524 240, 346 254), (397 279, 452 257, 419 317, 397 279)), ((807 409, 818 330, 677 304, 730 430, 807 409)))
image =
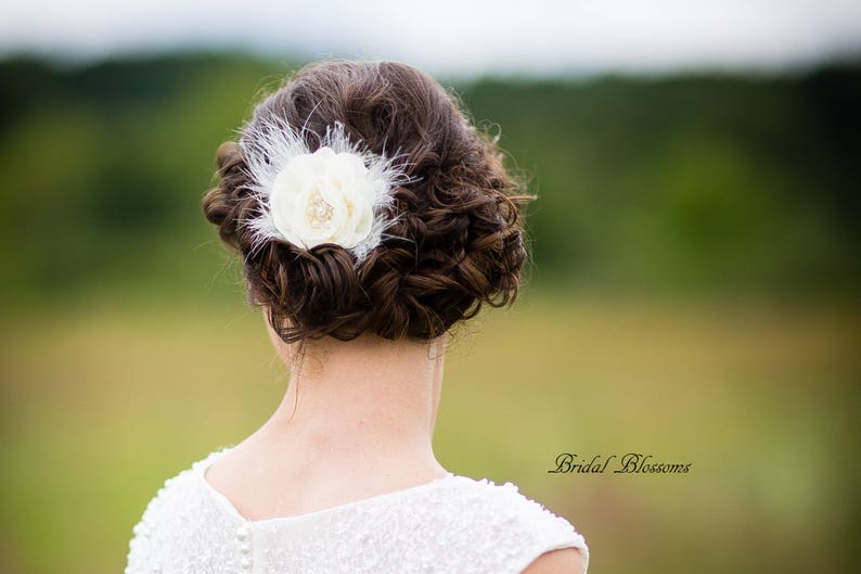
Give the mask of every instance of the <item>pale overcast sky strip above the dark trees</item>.
POLYGON ((861 53, 861 0, 3 0, 0 56, 181 48, 480 73, 784 68, 861 53))

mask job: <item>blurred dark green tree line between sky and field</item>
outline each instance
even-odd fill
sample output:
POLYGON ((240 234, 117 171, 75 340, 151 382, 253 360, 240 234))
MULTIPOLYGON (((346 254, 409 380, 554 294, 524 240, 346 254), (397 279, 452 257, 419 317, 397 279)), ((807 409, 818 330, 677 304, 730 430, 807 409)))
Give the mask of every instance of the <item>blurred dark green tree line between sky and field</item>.
MULTIPOLYGON (((218 292, 226 256, 200 211, 215 150, 295 67, 237 54, 0 62, 3 299, 218 292)), ((535 284, 817 297, 858 284, 857 65, 442 82, 501 132, 539 195, 535 284)))

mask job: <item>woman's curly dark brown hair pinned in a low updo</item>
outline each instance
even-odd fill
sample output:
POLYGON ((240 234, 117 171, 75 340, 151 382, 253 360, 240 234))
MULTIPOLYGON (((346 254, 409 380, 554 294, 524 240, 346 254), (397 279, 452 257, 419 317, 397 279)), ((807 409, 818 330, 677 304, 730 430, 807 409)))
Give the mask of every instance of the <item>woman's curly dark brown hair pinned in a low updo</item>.
MULTIPOLYGON (((417 182, 397 188, 398 215, 361 263, 334 244, 310 250, 270 241, 250 251, 258 216, 242 148, 218 148, 218 187, 203 199, 206 218, 244 257, 248 301, 269 309, 285 342, 365 331, 390 340, 429 340, 483 304, 511 304, 526 259, 522 183, 503 167, 498 137, 477 130, 457 95, 396 62, 325 61, 303 67, 254 109, 247 126, 273 118, 303 133, 311 150, 335 122, 350 141, 382 154, 399 150, 417 182)), ((250 130, 253 132, 253 130, 250 130)))

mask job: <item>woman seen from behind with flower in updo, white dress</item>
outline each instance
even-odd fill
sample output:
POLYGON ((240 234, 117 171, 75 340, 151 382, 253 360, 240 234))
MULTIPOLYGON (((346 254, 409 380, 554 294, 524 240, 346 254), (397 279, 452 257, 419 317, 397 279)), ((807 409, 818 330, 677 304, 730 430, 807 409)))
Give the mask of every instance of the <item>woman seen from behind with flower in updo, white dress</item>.
POLYGON ((567 521, 432 448, 448 333, 513 302, 526 257, 530 197, 496 140, 413 67, 321 62, 217 164, 204 213, 291 383, 252 436, 165 483, 126 573, 586 572, 567 521))

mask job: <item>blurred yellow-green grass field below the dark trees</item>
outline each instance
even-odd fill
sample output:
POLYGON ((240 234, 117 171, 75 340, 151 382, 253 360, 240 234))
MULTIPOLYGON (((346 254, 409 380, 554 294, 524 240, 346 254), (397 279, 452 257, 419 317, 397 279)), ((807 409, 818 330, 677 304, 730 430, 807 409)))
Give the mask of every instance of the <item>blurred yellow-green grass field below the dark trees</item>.
MULTIPOLYGON (((596 574, 848 569, 858 324, 529 294, 457 332, 437 455, 568 518, 596 574), (563 451, 691 470, 549 474, 563 451)), ((165 479, 250 434, 286 384, 239 299, 18 311, 0 343, 3 573, 121 571, 165 479)))

